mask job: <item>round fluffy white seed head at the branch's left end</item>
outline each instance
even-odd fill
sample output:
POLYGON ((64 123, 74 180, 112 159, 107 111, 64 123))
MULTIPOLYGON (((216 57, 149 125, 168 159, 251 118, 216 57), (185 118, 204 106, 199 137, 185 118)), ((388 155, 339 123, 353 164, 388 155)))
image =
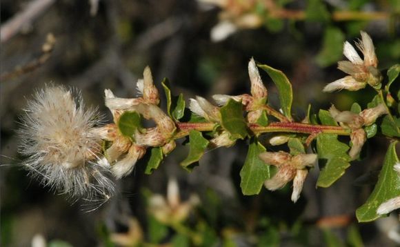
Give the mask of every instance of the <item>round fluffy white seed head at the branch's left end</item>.
POLYGON ((114 185, 97 164, 102 158, 101 137, 92 131, 100 124, 97 113, 61 86, 37 92, 25 111, 19 152, 28 156, 23 165, 30 173, 71 197, 110 198, 114 185))

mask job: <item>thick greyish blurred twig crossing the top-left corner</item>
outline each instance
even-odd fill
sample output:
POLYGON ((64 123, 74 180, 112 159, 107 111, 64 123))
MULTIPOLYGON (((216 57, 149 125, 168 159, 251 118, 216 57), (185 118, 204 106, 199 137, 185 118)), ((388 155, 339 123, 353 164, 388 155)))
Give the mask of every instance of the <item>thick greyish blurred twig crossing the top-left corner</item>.
POLYGON ((54 2, 55 0, 31 1, 24 10, 15 14, 12 19, 1 25, 0 43, 4 43, 11 39, 23 28, 23 26, 32 23, 34 19, 39 17, 39 15, 48 9, 54 2))

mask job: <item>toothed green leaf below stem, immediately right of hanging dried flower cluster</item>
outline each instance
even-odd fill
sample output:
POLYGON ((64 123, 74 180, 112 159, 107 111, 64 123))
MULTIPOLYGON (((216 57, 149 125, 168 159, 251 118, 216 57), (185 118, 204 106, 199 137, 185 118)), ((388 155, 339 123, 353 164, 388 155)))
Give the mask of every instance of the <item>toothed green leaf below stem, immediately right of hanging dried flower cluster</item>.
POLYGON ((319 134, 317 136, 317 153, 319 164, 325 162, 321 168, 317 186, 327 188, 339 179, 350 166, 350 157, 347 154, 349 147, 337 139, 334 134, 319 134))

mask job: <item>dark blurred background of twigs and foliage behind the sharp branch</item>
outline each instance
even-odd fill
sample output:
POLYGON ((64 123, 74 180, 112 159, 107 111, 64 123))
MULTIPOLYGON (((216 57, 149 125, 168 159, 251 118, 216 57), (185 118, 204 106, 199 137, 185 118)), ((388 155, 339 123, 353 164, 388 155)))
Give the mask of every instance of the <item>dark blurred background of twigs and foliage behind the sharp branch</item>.
MULTIPOLYGON (((396 217, 369 224, 354 217, 377 178, 385 139, 370 142, 366 159, 353 162, 330 188, 315 188, 314 169, 296 204, 290 185, 241 194, 246 141, 207 152, 191 173, 179 167, 188 148, 178 146, 150 176, 139 161, 117 181, 119 195, 88 212, 94 205, 72 203, 28 177, 19 166, 24 157, 16 130, 26 100, 49 83, 78 88, 87 106, 112 121, 103 90, 137 95, 135 83, 147 65, 160 90, 168 77, 172 93, 183 92, 188 103, 194 95, 250 92, 251 57, 286 73, 297 120, 309 103, 314 112, 331 103, 348 110, 354 101, 366 108, 372 90, 321 90, 343 77, 336 68, 343 41, 354 44, 360 30, 374 41, 379 69, 398 63, 399 16, 396 0, 2 0, 1 246, 30 246, 32 239, 49 246, 396 246, 396 217), (150 210, 149 201, 166 196, 171 178, 181 201, 192 203, 179 224, 161 222, 150 210)), ((274 84, 266 73, 261 77, 279 107, 274 84)))

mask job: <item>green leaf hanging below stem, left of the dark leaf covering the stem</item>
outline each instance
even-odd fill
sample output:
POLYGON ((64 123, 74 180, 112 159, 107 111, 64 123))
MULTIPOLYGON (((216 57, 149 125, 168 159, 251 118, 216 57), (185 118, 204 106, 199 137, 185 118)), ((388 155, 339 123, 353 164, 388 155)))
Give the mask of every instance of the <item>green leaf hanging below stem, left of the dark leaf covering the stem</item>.
POLYGON ((210 141, 208 141, 206 138, 203 137, 203 135, 201 135, 201 132, 197 130, 191 130, 189 133, 189 155, 188 157, 186 157, 185 160, 181 162, 181 166, 183 166, 183 168, 185 168, 186 170, 191 171, 193 168, 192 164, 201 159, 201 157, 204 155, 204 151, 206 151, 209 142, 210 141))

